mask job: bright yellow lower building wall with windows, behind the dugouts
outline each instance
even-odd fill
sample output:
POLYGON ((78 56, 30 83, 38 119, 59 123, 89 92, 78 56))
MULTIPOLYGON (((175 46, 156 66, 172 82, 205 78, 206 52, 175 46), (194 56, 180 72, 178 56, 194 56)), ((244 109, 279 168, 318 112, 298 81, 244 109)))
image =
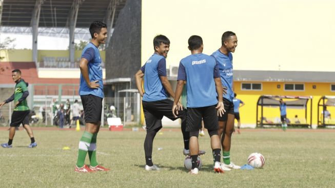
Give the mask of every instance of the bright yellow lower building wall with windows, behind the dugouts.
MULTIPOLYGON (((240 116, 242 124, 255 124, 256 123, 256 107, 257 101, 261 95, 282 95, 282 96, 312 96, 312 124, 317 124, 318 118, 318 102, 322 96, 335 95, 335 92, 330 91, 330 83, 305 83, 305 91, 284 91, 284 83, 282 82, 263 82, 261 91, 247 91, 241 90, 241 83, 261 83, 261 82, 234 82, 235 92, 237 98, 241 99, 245 106, 240 108, 240 116), (277 85, 281 85, 281 88, 277 88, 277 85), (316 85, 317 88, 313 89, 312 86, 316 85)), ((310 119, 310 103, 307 104, 307 119, 310 119)), ((320 108, 321 110, 321 108, 320 108)), ((329 107, 328 110, 331 114, 335 115, 335 108, 329 107)), ((259 109, 259 112, 260 109, 259 109)), ((277 108, 264 108, 264 117, 267 118, 280 118, 280 110, 277 108)), ((294 115, 298 115, 299 118, 305 117, 304 110, 301 109, 289 109, 287 108, 287 118, 292 119, 294 115)))

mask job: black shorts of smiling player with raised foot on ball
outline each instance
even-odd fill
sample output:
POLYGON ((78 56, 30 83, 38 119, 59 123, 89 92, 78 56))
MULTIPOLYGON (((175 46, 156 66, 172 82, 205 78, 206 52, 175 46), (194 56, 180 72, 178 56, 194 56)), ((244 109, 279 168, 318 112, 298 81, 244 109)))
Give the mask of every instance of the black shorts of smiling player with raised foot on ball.
POLYGON ((142 101, 145 124, 147 132, 155 129, 162 128, 163 116, 174 121, 178 118, 182 119, 182 122, 186 119, 186 110, 183 109, 178 111, 178 117, 175 118, 172 114, 173 101, 170 99, 163 99, 160 101, 146 102, 142 101))

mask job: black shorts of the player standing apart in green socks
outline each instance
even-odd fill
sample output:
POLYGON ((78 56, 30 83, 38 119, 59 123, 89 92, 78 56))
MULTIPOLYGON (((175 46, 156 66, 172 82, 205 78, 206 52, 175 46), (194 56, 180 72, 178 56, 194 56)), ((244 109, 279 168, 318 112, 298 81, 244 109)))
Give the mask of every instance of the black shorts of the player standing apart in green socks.
POLYGON ((103 109, 103 99, 93 95, 80 96, 82 99, 85 122, 97 124, 101 121, 101 113, 103 109))

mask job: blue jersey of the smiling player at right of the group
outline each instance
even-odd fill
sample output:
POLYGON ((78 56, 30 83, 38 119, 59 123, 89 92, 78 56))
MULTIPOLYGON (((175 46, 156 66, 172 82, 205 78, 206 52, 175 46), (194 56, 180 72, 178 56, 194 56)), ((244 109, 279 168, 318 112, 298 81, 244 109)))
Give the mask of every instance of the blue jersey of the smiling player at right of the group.
POLYGON ((234 98, 233 86, 233 69, 232 69, 232 54, 229 52, 228 56, 223 54, 220 49, 214 51, 212 57, 215 58, 216 63, 219 64, 220 76, 222 86, 227 87, 227 94, 223 95, 225 99, 232 102, 234 98))

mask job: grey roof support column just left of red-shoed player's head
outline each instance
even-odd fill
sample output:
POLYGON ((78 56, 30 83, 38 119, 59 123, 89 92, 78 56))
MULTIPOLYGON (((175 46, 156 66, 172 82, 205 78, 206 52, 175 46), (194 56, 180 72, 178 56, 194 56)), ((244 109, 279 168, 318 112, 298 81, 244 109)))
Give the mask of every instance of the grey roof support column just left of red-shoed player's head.
POLYGON ((82 0, 74 0, 71 6, 71 12, 69 14, 69 54, 70 54, 70 62, 74 63, 74 29, 77 23, 77 16, 80 4, 82 4, 82 0))

